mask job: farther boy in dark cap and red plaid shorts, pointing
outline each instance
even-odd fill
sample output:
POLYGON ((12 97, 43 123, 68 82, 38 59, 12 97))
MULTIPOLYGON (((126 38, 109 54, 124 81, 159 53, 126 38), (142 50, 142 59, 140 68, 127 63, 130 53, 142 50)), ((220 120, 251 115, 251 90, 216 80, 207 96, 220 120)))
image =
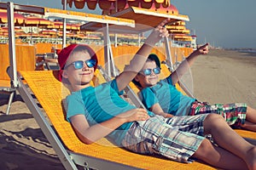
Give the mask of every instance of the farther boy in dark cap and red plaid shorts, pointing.
MULTIPOLYGON (((200 102, 183 95, 175 88, 179 78, 189 70, 195 59, 201 54, 208 54, 208 43, 197 48, 188 58, 178 65, 166 79, 160 80, 160 59, 156 54, 149 54, 143 69, 133 79, 140 89, 139 96, 149 111, 164 117, 195 116, 216 113, 232 127, 241 127, 256 132, 256 110, 245 103, 215 104, 200 102)), ((203 83, 204 80, 202 80, 203 83)))

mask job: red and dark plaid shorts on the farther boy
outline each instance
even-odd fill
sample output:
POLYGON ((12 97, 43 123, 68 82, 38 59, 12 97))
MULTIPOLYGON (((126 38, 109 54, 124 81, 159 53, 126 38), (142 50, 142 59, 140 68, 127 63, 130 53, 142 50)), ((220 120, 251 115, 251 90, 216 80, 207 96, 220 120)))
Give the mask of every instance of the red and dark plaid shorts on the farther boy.
POLYGON ((195 101, 189 111, 189 116, 205 113, 216 113, 224 117, 225 121, 232 127, 240 127, 245 123, 247 104, 215 104, 209 105, 206 102, 195 101))

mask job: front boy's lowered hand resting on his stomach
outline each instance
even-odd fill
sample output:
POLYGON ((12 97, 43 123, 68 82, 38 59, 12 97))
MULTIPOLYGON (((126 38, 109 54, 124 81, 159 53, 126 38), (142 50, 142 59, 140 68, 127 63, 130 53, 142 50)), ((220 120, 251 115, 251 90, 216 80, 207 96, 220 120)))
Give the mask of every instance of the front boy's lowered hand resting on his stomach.
POLYGON ((125 119, 125 122, 146 121, 149 118, 148 111, 141 108, 125 111, 124 113, 120 114, 118 117, 125 119))

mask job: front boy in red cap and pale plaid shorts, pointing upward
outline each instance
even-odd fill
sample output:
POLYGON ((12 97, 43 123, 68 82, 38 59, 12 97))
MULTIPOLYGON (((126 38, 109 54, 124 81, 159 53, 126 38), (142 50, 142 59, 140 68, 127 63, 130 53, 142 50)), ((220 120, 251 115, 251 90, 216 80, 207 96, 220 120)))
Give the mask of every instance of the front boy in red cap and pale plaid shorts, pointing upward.
POLYGON ((181 162, 198 158, 225 169, 255 169, 255 146, 237 135, 221 116, 178 116, 170 118, 166 124, 162 116, 137 109, 119 97, 142 69, 154 43, 168 36, 167 22, 163 21, 154 29, 124 72, 95 88, 90 87, 97 65, 94 51, 86 45, 62 49, 58 56, 59 79, 72 91, 66 99, 67 121, 85 144, 106 137, 139 154, 157 154, 181 162), (219 146, 204 137, 208 133, 219 146))

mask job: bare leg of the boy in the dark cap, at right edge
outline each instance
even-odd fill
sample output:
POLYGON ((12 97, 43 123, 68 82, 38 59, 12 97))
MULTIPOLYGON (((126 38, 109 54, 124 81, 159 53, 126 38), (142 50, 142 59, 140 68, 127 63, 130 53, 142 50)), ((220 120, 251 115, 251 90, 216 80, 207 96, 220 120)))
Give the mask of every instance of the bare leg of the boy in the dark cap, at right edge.
POLYGON ((241 125, 242 128, 256 132, 256 110, 247 106, 246 122, 241 125))

